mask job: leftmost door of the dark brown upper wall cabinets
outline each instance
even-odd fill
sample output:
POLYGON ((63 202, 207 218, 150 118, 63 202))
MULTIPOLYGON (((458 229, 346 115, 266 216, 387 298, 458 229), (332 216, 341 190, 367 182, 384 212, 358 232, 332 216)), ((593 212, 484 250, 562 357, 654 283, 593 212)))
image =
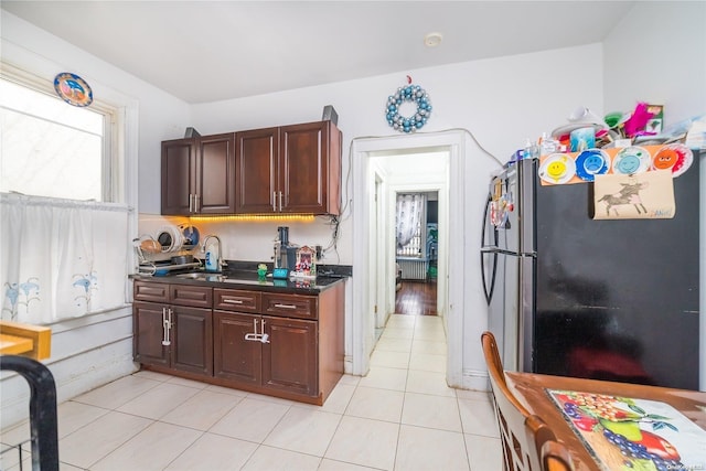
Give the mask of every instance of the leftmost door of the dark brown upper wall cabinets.
POLYGON ((162 214, 183 215, 193 211, 196 184, 195 142, 174 139, 162 142, 162 214))

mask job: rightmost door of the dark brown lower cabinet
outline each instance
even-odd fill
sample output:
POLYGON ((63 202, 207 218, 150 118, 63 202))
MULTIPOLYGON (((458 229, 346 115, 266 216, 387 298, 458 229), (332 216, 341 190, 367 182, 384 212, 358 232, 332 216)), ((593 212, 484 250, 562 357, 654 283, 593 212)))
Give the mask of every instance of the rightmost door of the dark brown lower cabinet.
POLYGON ((317 322, 263 317, 263 386, 307 396, 318 394, 317 322))

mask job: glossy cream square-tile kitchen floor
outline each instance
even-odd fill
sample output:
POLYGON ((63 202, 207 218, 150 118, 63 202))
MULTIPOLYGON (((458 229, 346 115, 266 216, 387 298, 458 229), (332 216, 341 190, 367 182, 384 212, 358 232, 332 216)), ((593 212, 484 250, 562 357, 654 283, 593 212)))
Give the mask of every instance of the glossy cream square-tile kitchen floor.
MULTIPOLYGON (((441 320, 395 314, 370 374, 323 407, 138 372, 58 406, 61 470, 501 470, 488 394, 449 388, 445 368, 441 320)), ((28 438, 26 422, 1 435, 28 438)), ((20 469, 17 450, 0 469, 20 469)))

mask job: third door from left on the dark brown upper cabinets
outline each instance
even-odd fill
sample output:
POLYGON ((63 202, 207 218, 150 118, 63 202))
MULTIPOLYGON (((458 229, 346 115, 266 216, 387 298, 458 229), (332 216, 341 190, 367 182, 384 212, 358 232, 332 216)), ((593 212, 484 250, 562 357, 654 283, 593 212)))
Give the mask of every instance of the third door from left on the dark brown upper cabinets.
POLYGON ((279 212, 279 128, 236 133, 236 213, 279 212))

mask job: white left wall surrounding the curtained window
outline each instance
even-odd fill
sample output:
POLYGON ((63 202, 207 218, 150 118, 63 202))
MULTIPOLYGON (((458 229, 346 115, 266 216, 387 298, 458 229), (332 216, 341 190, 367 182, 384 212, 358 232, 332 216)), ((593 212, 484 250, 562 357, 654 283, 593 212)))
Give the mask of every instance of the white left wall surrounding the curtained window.
MULTIPOLYGON (((173 137, 178 129, 183 132, 183 128, 190 122, 186 104, 4 10, 0 10, 0 14, 2 61, 33 71, 47 81, 53 81, 60 72, 76 73, 92 86, 95 99, 106 99, 125 107, 129 115, 129 126, 133 128, 128 130, 127 152, 131 160, 128 172, 135 180, 139 171, 140 193, 150 194, 149 190, 159 188, 160 141, 173 137), (138 158, 139 169, 135 169, 138 158)), ((137 184, 132 182, 126 189, 128 204, 137 204, 137 184)), ((159 200, 140 201, 146 202, 148 208, 150 204, 159 208, 159 200)), ((60 322, 51 328, 52 356, 44 363, 54 375, 60 402, 135 370, 129 306, 60 322)), ((13 373, 4 372, 0 388, 1 426, 6 427, 26 417, 26 382, 13 373)))

